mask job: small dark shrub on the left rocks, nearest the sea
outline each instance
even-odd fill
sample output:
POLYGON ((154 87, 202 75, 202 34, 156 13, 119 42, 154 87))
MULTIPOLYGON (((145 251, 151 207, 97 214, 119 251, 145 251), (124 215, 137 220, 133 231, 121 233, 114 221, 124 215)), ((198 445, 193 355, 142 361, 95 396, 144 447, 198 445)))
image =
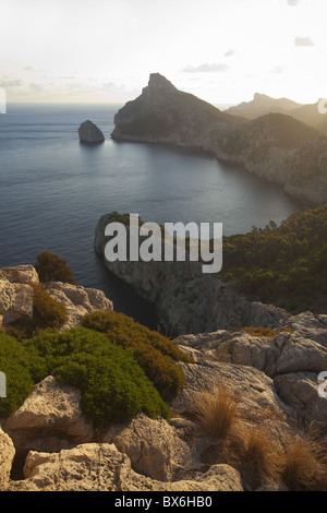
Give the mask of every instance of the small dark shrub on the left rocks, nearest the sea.
POLYGON ((66 260, 47 249, 38 253, 35 269, 39 281, 43 283, 63 282, 76 285, 73 272, 68 265, 66 260))

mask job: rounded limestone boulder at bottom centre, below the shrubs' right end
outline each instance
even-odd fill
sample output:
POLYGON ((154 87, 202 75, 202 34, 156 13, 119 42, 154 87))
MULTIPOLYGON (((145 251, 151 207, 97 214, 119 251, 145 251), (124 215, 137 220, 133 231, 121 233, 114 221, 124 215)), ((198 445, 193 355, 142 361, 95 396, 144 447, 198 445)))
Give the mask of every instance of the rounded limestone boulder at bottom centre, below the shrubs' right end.
POLYGON ((112 441, 129 456, 134 470, 152 479, 175 480, 179 472, 192 467, 189 445, 164 419, 140 415, 112 441))

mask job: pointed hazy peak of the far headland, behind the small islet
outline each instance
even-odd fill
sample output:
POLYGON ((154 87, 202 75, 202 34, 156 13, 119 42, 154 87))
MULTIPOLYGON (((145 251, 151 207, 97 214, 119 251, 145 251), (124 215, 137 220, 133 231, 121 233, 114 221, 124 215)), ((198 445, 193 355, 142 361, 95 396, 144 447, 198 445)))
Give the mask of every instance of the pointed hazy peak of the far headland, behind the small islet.
POLYGON ((203 148, 210 128, 225 132, 242 121, 153 73, 141 96, 117 112, 111 138, 203 148))

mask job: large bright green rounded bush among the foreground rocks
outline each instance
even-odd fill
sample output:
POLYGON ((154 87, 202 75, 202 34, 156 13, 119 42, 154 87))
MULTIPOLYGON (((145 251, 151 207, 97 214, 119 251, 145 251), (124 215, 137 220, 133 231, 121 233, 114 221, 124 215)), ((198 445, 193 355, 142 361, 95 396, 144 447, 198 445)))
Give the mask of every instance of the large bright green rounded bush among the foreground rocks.
POLYGON ((34 380, 48 374, 81 390, 84 414, 99 428, 123 422, 143 411, 169 418, 169 407, 133 355, 104 334, 82 326, 40 333, 25 342, 39 358, 31 365, 34 380))

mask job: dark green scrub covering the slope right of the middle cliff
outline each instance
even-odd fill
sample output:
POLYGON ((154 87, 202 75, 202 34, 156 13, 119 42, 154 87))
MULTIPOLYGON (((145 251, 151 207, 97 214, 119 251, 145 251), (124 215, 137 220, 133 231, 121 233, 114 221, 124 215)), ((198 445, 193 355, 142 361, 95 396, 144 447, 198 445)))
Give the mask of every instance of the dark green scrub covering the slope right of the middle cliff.
POLYGON ((327 205, 292 214, 280 226, 223 239, 221 277, 250 299, 298 312, 326 307, 327 205))

